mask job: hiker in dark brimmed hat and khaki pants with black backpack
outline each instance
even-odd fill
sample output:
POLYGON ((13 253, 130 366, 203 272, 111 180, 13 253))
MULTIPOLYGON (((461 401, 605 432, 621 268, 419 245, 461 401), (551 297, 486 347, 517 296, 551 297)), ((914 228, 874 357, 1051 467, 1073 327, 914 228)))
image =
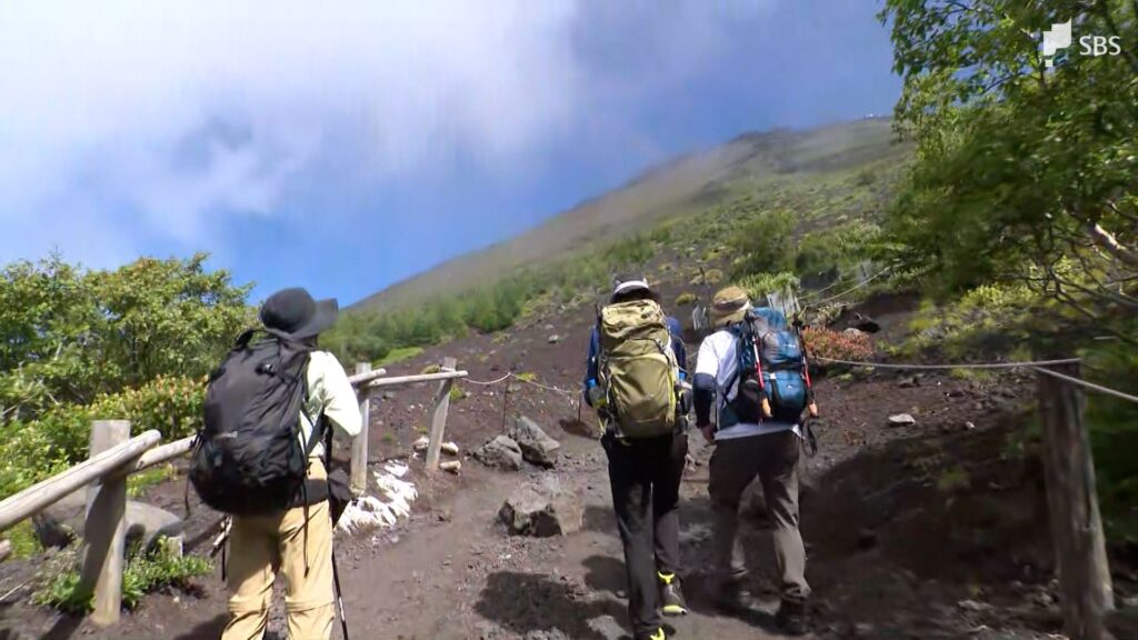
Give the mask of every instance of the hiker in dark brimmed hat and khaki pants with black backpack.
POLYGON ((335 300, 316 302, 302 288, 278 292, 261 307, 267 337, 242 335, 212 378, 206 428, 199 436, 203 444, 195 454, 191 481, 203 500, 233 515, 225 566, 231 617, 222 640, 264 635, 278 571, 286 579, 289 638, 331 637, 336 598, 333 522, 323 460, 323 441, 331 438, 325 425, 330 421, 347 436, 362 428, 347 374, 335 355, 316 350, 318 336, 336 317, 335 300), (258 359, 259 363, 248 367, 258 359), (258 393, 266 387, 267 396, 258 393), (229 442, 211 432, 214 424, 234 425, 226 434, 229 442), (242 444, 246 433, 251 435, 242 444), (244 457, 237 453, 239 449, 244 457), (240 466, 246 457, 258 458, 249 463, 261 465, 262 470, 240 466), (282 471, 286 468, 288 474, 282 471), (245 477, 253 473, 292 482, 274 482, 279 489, 262 492, 254 478, 245 477))

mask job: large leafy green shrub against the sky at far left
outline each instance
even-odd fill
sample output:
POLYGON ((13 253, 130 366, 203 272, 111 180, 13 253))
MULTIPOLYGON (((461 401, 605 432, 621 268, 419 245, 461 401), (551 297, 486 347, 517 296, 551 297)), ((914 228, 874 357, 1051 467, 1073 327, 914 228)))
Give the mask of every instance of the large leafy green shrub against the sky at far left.
POLYGON ((248 286, 189 260, 81 271, 58 256, 0 271, 0 409, 34 420, 59 404, 159 376, 205 376, 255 320, 248 286))

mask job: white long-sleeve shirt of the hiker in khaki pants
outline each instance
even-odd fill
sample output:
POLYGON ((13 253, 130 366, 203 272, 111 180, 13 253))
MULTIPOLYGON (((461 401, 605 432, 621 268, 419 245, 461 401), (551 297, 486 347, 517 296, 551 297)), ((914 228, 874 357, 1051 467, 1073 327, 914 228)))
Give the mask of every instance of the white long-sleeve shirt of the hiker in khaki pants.
MULTIPOLYGON (((312 352, 307 378, 308 396, 304 401, 304 411, 300 416, 300 444, 312 437, 313 425, 308 418, 315 419, 321 413, 344 435, 348 437, 357 435, 363 429, 360 400, 339 360, 327 351, 312 352)), ((313 448, 314 458, 323 453, 323 443, 313 448)))

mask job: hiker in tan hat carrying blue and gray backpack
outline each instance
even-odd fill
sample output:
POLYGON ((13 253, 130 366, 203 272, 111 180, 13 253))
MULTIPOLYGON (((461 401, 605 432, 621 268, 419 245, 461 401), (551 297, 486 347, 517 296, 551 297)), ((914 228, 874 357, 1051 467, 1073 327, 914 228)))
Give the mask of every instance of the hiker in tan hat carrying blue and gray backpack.
POLYGON ((803 634, 810 588, 798 528, 799 424, 808 407, 813 411, 813 399, 801 345, 781 312, 752 310, 740 287, 717 293, 710 315, 715 333, 700 345, 693 386, 695 425, 709 443, 715 443, 708 493, 715 511, 720 604, 748 606, 747 567, 735 538, 740 500, 758 477, 775 525, 782 581, 776 623, 785 633, 803 634), (718 416, 715 422, 712 404, 718 416))

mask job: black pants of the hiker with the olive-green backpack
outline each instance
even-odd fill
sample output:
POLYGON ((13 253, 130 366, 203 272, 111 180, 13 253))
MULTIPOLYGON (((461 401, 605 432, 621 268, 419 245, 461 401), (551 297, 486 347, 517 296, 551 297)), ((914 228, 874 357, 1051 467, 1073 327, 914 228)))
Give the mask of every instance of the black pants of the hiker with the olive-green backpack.
POLYGON ((609 482, 617 528, 625 547, 628 615, 637 638, 660 629, 657 572, 679 568, 679 481, 687 435, 601 440, 609 454, 609 482))

